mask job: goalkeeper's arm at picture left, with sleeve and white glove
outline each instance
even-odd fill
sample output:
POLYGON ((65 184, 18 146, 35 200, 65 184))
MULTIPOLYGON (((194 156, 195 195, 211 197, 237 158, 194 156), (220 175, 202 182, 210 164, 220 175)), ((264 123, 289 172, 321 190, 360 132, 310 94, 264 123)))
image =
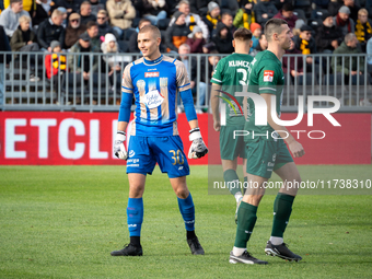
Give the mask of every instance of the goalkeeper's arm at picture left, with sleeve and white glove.
POLYGON ((117 132, 114 142, 114 154, 121 160, 127 160, 128 153, 125 147, 127 139, 127 127, 130 118, 131 101, 133 97, 133 86, 130 77, 130 65, 128 65, 123 73, 121 82, 121 103, 117 123, 117 132))

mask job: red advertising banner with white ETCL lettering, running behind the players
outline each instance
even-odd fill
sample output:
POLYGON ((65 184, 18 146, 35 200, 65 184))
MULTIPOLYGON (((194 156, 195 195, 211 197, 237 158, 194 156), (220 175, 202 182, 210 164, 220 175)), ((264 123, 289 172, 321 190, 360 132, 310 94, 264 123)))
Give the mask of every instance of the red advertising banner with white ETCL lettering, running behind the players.
MULTIPOLYGON (((289 131, 302 143, 306 154, 298 164, 371 164, 371 114, 333 114, 341 125, 333 126, 323 115, 306 115, 289 131)), ((294 119, 297 114, 283 114, 294 119)), ((220 164, 219 133, 208 114, 198 115, 209 154, 189 164, 220 164), (208 121, 210 125, 208 125, 208 121), (209 126, 209 128, 208 128, 209 126), (208 137, 209 136, 209 137, 208 137)), ((124 164, 113 154, 117 113, 0 113, 1 165, 101 165, 124 164)), ((178 131, 187 154, 189 126, 178 117, 178 131)))

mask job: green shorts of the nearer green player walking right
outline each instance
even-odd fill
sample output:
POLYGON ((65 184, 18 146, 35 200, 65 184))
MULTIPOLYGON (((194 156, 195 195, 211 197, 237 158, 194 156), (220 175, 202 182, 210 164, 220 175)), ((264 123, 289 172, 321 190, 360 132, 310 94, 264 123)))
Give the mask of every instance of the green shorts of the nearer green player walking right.
POLYGON ((293 162, 291 154, 282 139, 269 141, 256 139, 247 142, 246 172, 265 178, 270 178, 276 171, 287 163, 293 162))

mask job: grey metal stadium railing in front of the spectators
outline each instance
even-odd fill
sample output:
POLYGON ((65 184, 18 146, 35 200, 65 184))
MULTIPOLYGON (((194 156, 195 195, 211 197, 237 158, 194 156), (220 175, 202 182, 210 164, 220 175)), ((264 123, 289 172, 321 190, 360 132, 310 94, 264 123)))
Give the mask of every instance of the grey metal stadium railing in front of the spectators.
MULTIPOLYGON (((5 55, 10 53, 0 51, 5 61, 5 55)), ((81 62, 82 58, 89 58, 89 68, 97 68, 89 79, 84 79, 81 72, 70 71, 48 79, 46 75, 45 57, 48 53, 11 53, 12 60, 9 65, 0 63, 5 72, 3 84, 4 96, 2 111, 85 111, 85 112, 117 112, 120 103, 121 74, 128 62, 140 58, 139 54, 72 54, 63 53, 58 55, 67 56, 66 67, 70 69, 72 65, 81 62), (71 65, 72 63, 72 65, 71 65), (111 75, 112 66, 117 65, 111 75)), ((177 55, 170 55, 177 58, 177 55)), ((188 71, 196 81, 194 90, 195 105, 198 109, 208 111, 210 104, 211 74, 209 70, 209 57, 219 58, 226 55, 188 55, 188 71), (206 81, 205 104, 199 101, 200 80, 206 81)), ((291 77, 290 71, 286 73, 286 86, 282 95, 282 111, 295 112, 298 108, 298 97, 304 96, 333 96, 341 103, 340 112, 372 112, 372 65, 368 63, 365 55, 311 55, 312 63, 306 67, 305 56, 303 59, 303 74, 291 77), (337 58, 337 59, 333 59, 337 58), (357 65, 357 72, 362 75, 347 75, 344 70, 335 73, 337 60, 340 66, 351 72, 352 59, 357 65), (310 70, 310 71, 309 71, 310 70)), ((370 58, 371 59, 371 58, 370 58)), ((56 62, 56 61, 55 61, 56 62)), ((60 61, 58 61, 60 63, 60 61)), ((294 59, 294 70, 298 70, 298 59, 294 59)), ((51 61, 53 63, 53 61, 51 61)), ((53 65, 50 65, 53 67, 53 65)), ((212 65, 211 68, 216 67, 212 65)), ((75 66, 73 67, 75 68, 75 66)), ((0 85, 1 86, 1 85, 0 85)), ((0 96, 1 97, 1 96, 0 96)), ((318 102, 318 107, 332 106, 327 102, 318 102)))

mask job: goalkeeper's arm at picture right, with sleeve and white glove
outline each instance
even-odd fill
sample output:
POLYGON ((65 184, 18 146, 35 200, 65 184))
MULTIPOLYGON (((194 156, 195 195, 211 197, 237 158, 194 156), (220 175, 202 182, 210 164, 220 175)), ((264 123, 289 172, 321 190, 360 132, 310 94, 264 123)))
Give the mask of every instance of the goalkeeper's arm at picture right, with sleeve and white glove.
POLYGON ((208 148, 202 140, 199 129, 198 117, 194 107, 194 98, 188 74, 185 65, 181 61, 176 61, 176 75, 177 89, 179 91, 182 102, 184 103, 188 125, 190 126, 188 138, 190 141, 193 141, 193 143, 188 151, 188 159, 202 158, 208 153, 208 148))

